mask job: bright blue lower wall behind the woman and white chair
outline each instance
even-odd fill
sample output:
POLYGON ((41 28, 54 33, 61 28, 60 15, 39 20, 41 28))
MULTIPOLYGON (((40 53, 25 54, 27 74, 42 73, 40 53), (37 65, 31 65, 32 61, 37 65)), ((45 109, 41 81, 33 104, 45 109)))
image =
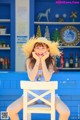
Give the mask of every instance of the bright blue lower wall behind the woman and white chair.
MULTIPOLYGON (((65 72, 65 74, 64 72, 58 72, 53 74, 51 78, 51 81, 58 80, 59 86, 56 93, 59 94, 61 99, 70 108, 70 120, 73 116, 77 117, 78 115, 78 104, 80 104, 79 74, 80 72, 65 72)), ((6 107, 10 103, 22 95, 22 90, 20 89, 21 80, 29 80, 26 72, 9 72, 0 74, 0 111, 6 110, 6 107)), ((21 120, 22 111, 20 111, 19 115, 21 120)), ((43 116, 41 116, 41 118, 42 117, 43 116)), ((39 119, 40 117, 37 115, 37 118, 39 119)), ((49 115, 46 115, 43 118, 48 120, 49 115)), ((36 120, 35 115, 33 115, 33 120, 36 120)))

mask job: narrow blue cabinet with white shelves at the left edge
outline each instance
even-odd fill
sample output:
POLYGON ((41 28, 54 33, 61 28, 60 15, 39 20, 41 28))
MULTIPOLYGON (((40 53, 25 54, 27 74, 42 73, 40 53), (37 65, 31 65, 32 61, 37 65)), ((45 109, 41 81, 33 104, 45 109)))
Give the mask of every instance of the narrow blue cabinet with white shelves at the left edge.
POLYGON ((0 1, 0 71, 15 70, 15 1, 0 1))

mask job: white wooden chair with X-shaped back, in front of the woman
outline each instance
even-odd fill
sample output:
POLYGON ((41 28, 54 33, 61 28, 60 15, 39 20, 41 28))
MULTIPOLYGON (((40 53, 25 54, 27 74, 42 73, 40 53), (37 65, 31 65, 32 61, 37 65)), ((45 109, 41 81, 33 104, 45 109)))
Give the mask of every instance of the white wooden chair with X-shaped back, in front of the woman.
POLYGON ((30 82, 21 81, 21 89, 23 89, 23 120, 31 120, 31 113, 49 113, 51 114, 51 120, 55 119, 55 90, 58 88, 57 81, 51 82, 30 82), (45 93, 37 95, 32 90, 46 90, 45 93), (27 94, 33 95, 30 101, 27 101, 27 94), (51 101, 43 98, 44 96, 51 94, 51 101), (43 101, 45 104, 34 104, 37 100, 43 101), (47 104, 47 105, 46 105, 47 104))

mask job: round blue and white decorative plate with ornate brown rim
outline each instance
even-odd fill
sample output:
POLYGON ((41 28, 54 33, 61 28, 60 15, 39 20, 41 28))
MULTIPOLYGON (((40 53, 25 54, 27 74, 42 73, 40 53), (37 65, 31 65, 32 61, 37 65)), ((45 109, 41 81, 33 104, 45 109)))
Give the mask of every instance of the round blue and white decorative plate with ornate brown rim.
POLYGON ((65 26, 61 29, 62 43, 67 46, 75 46, 80 42, 80 34, 76 27, 65 26))

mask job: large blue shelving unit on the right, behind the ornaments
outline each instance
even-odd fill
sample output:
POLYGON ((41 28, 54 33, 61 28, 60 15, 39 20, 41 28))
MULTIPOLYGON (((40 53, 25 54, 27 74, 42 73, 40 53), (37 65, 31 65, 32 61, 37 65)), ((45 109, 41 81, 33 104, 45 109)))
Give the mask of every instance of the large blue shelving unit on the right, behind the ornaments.
MULTIPOLYGON (((48 26, 49 32, 50 32, 50 40, 52 40, 52 35, 54 34, 55 29, 57 28, 59 31, 62 30, 65 26, 74 26, 77 28, 77 30, 80 32, 80 4, 56 4, 56 0, 34 0, 34 34, 37 33, 37 27, 40 26, 42 36, 45 34, 45 28, 48 26), (75 10, 76 8, 76 10, 75 10), (50 9, 50 12, 48 14, 49 21, 46 20, 46 17, 42 17, 40 21, 38 21, 38 15, 39 13, 45 13, 47 9, 50 9), (75 22, 72 22, 72 19, 70 18, 72 11, 77 12, 77 18, 75 19, 75 22), (57 18, 55 17, 56 14, 58 14, 60 17, 63 16, 63 14, 66 14, 66 18, 64 18, 64 22, 57 22, 57 18)), ((80 35, 79 35, 80 39, 80 35)), ((80 40, 79 40, 80 41, 80 40)), ((53 48, 54 49, 54 48, 53 48)), ((76 53, 78 53, 78 57, 80 57, 80 42, 75 46, 62 46, 61 51, 64 52, 64 58, 66 57, 70 58, 70 53, 72 52, 73 58, 74 58, 74 64, 75 64, 75 56, 76 53)), ((58 59, 58 64, 60 67, 60 60, 58 59)), ((65 66, 64 66, 65 67, 65 66)), ((61 70, 79 70, 80 67, 77 69, 72 68, 64 68, 61 70)))

